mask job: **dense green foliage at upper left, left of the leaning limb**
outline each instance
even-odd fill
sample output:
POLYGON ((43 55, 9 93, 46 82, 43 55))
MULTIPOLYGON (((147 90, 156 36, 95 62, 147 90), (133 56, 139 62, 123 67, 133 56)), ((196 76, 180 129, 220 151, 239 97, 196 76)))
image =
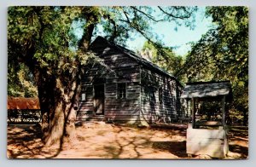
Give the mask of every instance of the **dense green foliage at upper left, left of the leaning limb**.
POLYGON ((44 78, 41 75, 38 79, 45 83, 50 82, 50 78, 63 76, 63 83, 68 85, 79 60, 68 44, 73 39, 70 26, 81 9, 9 7, 8 13, 8 94, 38 95, 35 91, 38 81, 34 80, 38 71, 44 73, 44 78))

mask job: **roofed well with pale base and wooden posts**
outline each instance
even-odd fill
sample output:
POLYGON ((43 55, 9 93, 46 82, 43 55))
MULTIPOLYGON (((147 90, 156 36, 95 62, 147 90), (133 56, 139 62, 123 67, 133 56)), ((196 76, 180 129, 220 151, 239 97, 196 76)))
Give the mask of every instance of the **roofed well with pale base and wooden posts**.
POLYGON ((188 101, 192 115, 187 153, 224 158, 229 151, 225 114, 232 100, 230 82, 187 83, 181 98, 188 101))

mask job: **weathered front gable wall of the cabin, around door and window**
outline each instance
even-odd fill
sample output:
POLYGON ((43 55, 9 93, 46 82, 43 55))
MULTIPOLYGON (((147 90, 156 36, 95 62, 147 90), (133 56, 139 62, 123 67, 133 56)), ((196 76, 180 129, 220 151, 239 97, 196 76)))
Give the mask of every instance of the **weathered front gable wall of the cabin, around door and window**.
POLYGON ((78 120, 86 119, 87 111, 94 111, 94 85, 104 84, 104 118, 108 121, 135 123, 140 114, 140 66, 118 50, 106 49, 100 56, 106 66, 84 68, 82 91, 86 100, 80 101, 78 120), (118 99, 117 83, 126 84, 126 98, 118 99))

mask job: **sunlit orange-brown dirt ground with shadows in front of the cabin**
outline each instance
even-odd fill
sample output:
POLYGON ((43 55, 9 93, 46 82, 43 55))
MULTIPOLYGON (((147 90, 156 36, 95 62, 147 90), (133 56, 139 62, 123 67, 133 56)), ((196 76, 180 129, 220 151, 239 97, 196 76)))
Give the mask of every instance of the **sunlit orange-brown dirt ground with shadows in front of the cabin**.
MULTIPOLYGON (((247 130, 233 128, 230 134, 226 158, 247 158, 247 130)), ((189 158, 186 130, 181 129, 140 129, 92 122, 77 127, 77 139, 64 143, 61 150, 44 147, 41 136, 38 125, 9 125, 8 158, 189 158)))

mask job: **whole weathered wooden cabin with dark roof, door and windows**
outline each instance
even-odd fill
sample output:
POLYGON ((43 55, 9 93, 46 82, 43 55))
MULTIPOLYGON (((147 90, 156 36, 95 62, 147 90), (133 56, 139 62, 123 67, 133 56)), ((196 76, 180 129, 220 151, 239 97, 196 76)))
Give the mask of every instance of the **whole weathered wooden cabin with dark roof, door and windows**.
POLYGON ((77 120, 156 124, 177 121, 183 86, 168 72, 103 37, 90 50, 99 58, 83 69, 77 120))

